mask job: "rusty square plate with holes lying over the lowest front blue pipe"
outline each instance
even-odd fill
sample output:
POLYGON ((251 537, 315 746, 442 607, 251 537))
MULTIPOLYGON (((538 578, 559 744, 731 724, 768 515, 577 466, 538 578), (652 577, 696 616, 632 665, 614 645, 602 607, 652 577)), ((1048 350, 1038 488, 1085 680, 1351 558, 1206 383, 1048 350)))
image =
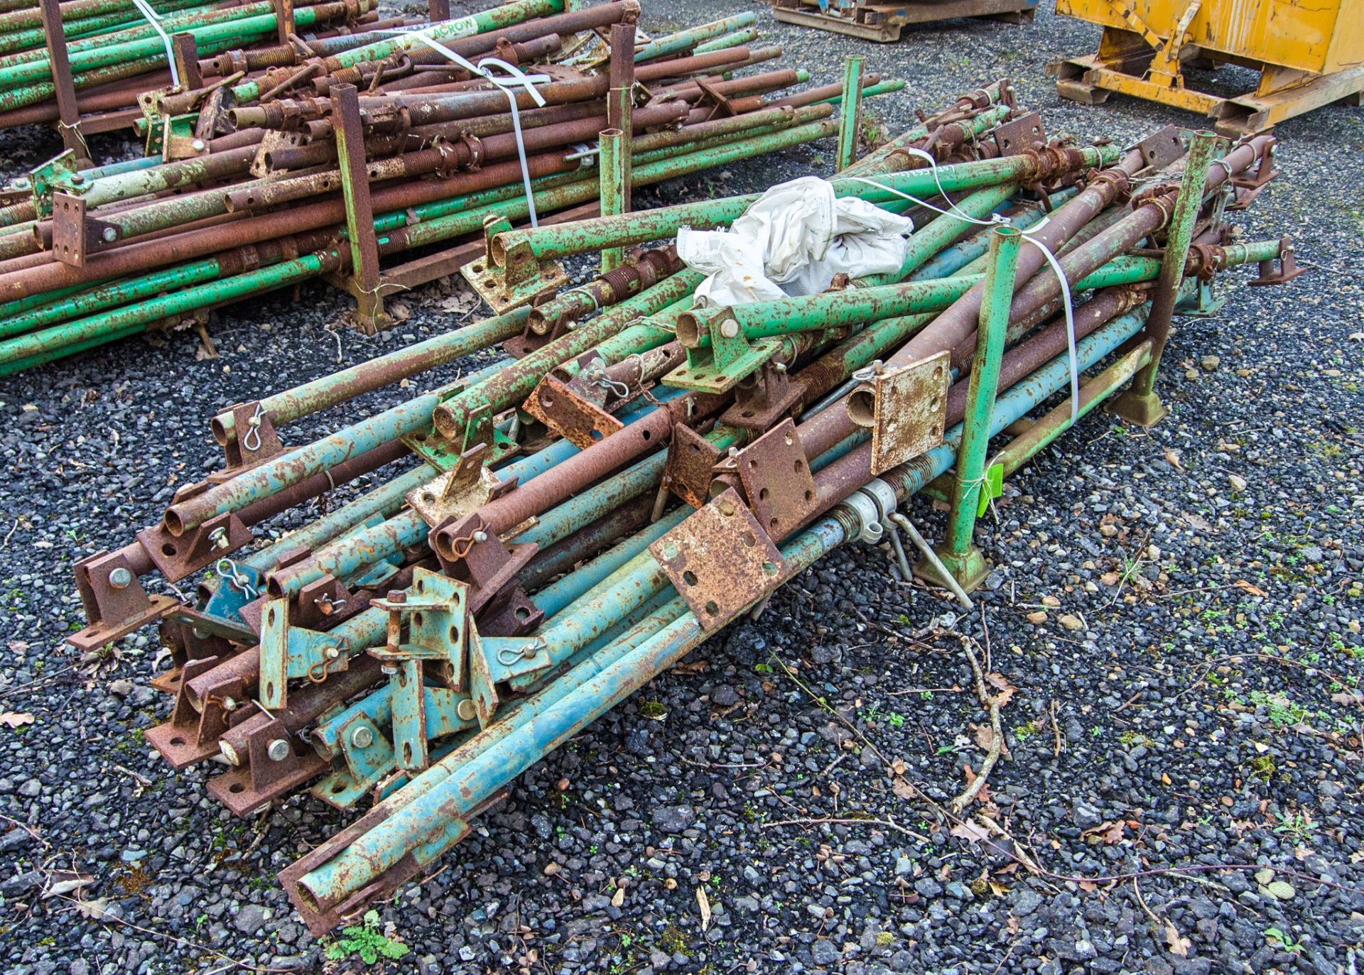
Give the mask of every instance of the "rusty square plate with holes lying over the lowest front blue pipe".
POLYGON ((707 631, 775 590, 786 567, 734 488, 697 509, 649 552, 707 631))

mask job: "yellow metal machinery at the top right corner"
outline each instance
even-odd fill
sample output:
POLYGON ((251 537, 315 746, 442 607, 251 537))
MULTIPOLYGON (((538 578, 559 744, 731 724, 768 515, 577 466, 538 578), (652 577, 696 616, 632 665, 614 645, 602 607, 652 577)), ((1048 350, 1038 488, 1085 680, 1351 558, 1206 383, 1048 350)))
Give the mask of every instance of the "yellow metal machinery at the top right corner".
POLYGON ((1048 65, 1063 98, 1110 91, 1202 112, 1222 135, 1259 132, 1364 91, 1364 0, 1056 0, 1103 27, 1099 50, 1048 65), (1255 91, 1221 98, 1185 87, 1183 65, 1240 64, 1255 91))

